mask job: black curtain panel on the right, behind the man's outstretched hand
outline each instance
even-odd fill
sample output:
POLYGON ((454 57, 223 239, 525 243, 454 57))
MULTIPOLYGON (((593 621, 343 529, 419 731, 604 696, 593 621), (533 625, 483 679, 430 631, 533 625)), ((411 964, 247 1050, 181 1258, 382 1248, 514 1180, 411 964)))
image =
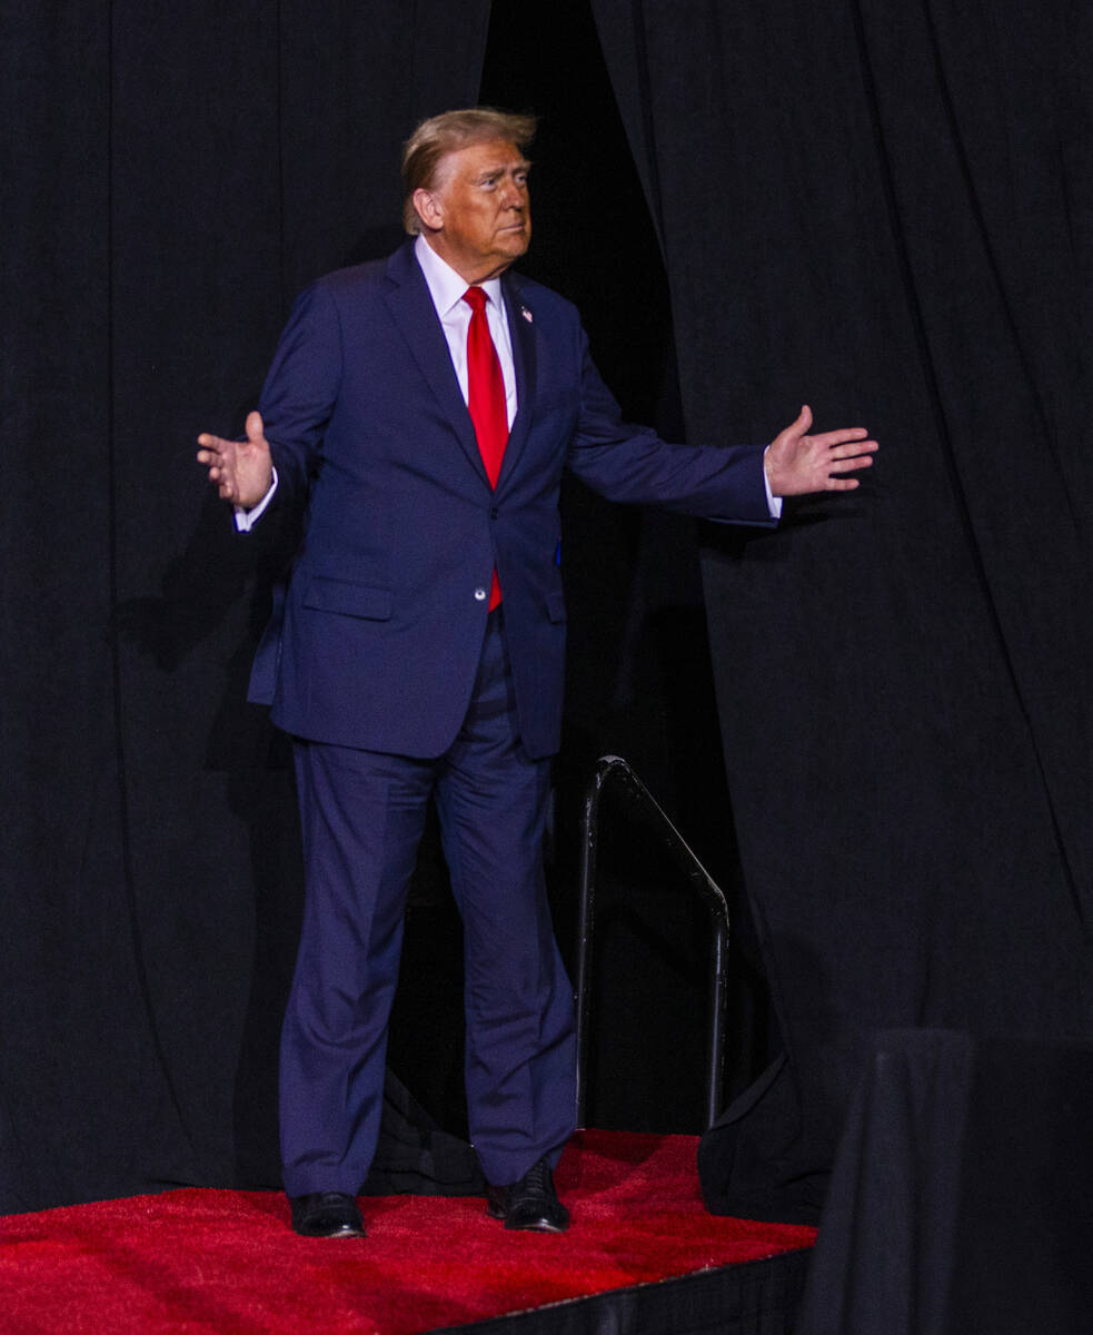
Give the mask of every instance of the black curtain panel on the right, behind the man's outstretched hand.
POLYGON ((882 454, 709 533, 745 880, 787 1060, 703 1145, 810 1218, 863 1039, 1088 1037, 1088 5, 594 0, 689 438, 807 400, 882 454))

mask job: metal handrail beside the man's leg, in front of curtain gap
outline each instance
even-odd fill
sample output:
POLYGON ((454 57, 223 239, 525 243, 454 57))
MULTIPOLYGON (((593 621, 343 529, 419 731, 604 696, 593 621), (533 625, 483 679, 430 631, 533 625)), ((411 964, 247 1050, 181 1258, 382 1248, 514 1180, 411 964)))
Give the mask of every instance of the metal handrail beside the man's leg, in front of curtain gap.
POLYGON ((725 1017, 729 980, 729 905, 718 884, 699 862, 683 836, 669 818, 630 765, 621 756, 601 756, 585 792, 581 817, 581 897, 578 906, 577 981, 577 1125, 585 1125, 587 1103, 589 1012, 591 1009, 593 910, 595 906, 595 864, 599 837, 599 797, 607 781, 618 785, 631 806, 641 810, 662 837, 669 853, 682 869, 710 913, 710 993, 706 1041, 706 1125, 721 1112, 725 1076, 725 1017))

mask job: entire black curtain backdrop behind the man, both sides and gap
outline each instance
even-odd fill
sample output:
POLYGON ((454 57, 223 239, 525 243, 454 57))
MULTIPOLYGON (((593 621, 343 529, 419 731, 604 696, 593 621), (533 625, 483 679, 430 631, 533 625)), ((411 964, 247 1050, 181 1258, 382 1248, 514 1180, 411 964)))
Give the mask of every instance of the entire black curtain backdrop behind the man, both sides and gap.
MULTIPOLYGON (((543 113, 524 267, 581 304, 627 413, 717 443, 807 399, 883 442, 855 495, 706 534, 787 1047, 707 1143, 713 1203, 807 1215, 874 1028, 1089 1035, 1089 24, 1061 0, 4 5, 0 1211, 276 1180, 299 852, 283 744, 243 705, 276 545, 235 539, 194 437, 240 429, 300 286, 398 242, 400 140, 479 88, 543 113)), ((573 487, 563 550, 565 941, 599 752, 730 892, 735 848, 693 527, 573 487)), ((697 1129, 701 922, 617 844, 594 1117, 697 1129)), ((459 1129, 435 849, 419 881, 391 1060, 459 1129)), ((727 1093, 767 1048, 737 917, 727 1093)))

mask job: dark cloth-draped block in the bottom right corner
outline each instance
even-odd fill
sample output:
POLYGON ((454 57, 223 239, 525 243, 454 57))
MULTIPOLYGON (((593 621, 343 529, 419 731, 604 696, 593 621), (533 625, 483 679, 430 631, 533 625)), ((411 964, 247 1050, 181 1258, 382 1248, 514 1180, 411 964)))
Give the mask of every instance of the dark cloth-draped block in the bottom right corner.
POLYGON ((1089 1324, 1093 1044, 877 1035, 797 1335, 1089 1324))

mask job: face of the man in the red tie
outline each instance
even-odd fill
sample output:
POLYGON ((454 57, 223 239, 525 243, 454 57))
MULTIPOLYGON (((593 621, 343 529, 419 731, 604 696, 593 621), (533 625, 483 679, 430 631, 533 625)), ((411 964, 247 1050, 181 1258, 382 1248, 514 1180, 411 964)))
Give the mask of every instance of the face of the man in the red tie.
POLYGON ((531 240, 528 163, 492 139, 440 159, 436 186, 415 203, 432 248, 468 283, 502 274, 531 240))

